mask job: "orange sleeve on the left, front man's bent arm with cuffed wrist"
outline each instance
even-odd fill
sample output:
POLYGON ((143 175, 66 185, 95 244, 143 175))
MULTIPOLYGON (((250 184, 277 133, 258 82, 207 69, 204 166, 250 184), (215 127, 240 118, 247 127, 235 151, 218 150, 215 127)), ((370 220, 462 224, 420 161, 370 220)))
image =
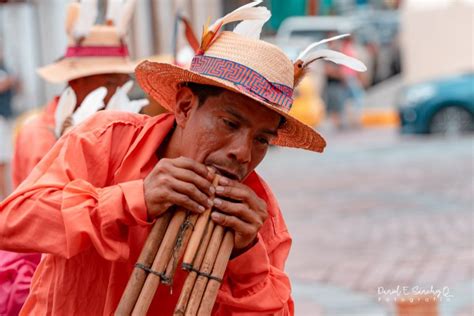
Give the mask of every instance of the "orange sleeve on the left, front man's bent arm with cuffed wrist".
POLYGON ((106 184, 138 127, 105 123, 92 118, 64 135, 0 204, 0 248, 70 258, 94 247, 107 260, 128 257, 129 226, 148 225, 143 180, 106 184))

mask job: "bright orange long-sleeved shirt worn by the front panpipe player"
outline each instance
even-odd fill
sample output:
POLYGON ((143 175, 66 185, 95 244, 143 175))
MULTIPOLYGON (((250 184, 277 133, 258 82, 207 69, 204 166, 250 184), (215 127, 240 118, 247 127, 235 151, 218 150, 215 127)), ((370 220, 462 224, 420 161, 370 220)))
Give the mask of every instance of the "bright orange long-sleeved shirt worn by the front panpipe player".
MULTIPOLYGON (((150 118, 97 113, 64 135, 17 190, 0 204, 0 247, 46 253, 33 277, 23 315, 111 315, 150 230, 143 179, 174 125, 150 118)), ((245 183, 268 204, 258 242, 232 259, 214 314, 293 314, 284 265, 291 238, 265 182, 245 183)), ((160 286, 151 315, 171 315, 186 272, 173 292, 160 286)))

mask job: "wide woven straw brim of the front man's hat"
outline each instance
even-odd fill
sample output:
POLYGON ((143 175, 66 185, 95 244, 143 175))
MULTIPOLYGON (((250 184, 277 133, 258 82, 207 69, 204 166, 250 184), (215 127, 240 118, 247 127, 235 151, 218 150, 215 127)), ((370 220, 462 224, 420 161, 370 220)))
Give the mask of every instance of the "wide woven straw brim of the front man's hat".
POLYGON ((272 141, 273 145, 302 148, 315 152, 323 152, 326 147, 324 138, 312 127, 226 80, 202 75, 175 65, 150 61, 139 64, 135 69, 135 75, 143 91, 171 112, 174 112, 176 93, 181 83, 195 82, 217 86, 243 94, 285 117, 286 122, 278 130, 278 136, 272 141))

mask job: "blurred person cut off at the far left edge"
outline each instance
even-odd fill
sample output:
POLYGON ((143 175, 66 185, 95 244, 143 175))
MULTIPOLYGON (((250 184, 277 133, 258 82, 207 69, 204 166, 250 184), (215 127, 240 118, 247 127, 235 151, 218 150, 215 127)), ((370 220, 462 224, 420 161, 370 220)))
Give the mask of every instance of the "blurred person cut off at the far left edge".
POLYGON ((3 64, 0 51, 0 200, 7 195, 7 166, 11 159, 11 126, 13 116, 12 98, 16 80, 3 64))

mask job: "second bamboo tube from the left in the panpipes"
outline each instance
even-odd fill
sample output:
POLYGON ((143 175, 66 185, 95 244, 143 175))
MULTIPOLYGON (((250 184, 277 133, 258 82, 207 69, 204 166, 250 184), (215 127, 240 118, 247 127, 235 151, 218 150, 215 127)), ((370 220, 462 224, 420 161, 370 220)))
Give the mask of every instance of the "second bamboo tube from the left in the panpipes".
MULTIPOLYGON (((175 245, 178 231, 184 220, 186 219, 186 211, 179 209, 175 212, 173 218, 168 225, 163 241, 161 242, 160 249, 155 256, 152 271, 157 273, 163 273, 168 261, 171 257, 173 246, 175 245)), ((145 284, 140 292, 135 308, 133 309, 132 315, 146 315, 150 304, 155 296, 156 289, 160 285, 160 277, 156 274, 149 273, 146 277, 145 284)))

